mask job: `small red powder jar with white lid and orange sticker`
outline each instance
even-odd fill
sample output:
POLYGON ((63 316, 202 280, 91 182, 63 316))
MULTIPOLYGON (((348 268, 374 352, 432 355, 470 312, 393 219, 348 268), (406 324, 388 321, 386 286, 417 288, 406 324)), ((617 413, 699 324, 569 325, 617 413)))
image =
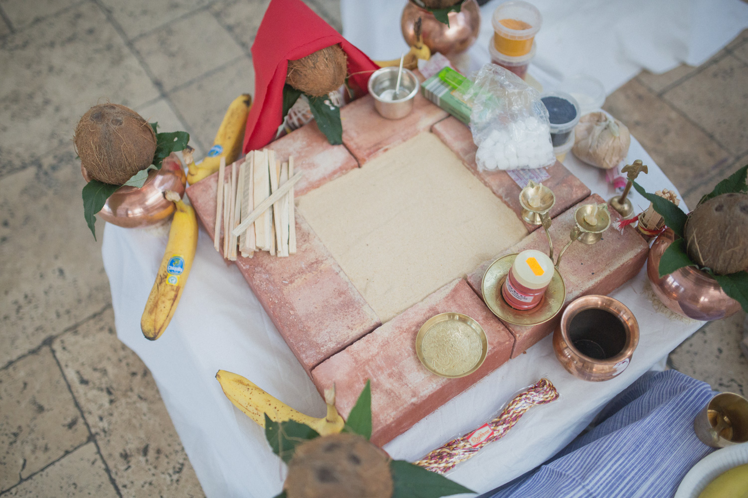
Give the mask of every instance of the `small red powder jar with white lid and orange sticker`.
POLYGON ((512 308, 531 310, 543 300, 554 272, 554 263, 544 252, 522 251, 501 286, 501 294, 512 308))

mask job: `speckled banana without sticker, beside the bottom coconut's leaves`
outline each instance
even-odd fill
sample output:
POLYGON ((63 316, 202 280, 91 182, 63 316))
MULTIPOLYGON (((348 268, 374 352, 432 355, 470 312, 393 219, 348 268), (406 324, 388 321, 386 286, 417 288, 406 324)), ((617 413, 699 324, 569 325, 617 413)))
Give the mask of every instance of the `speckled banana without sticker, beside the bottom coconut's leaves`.
POLYGON ((274 422, 293 420, 294 422, 304 423, 322 436, 337 434, 343 430, 346 423, 335 408, 335 387, 325 390, 327 416, 314 418, 294 410, 286 403, 270 396, 269 393, 257 387, 249 379, 245 379, 236 373, 218 370, 215 378, 221 383, 224 394, 233 405, 261 427, 265 427, 264 414, 267 414, 270 420, 274 422))

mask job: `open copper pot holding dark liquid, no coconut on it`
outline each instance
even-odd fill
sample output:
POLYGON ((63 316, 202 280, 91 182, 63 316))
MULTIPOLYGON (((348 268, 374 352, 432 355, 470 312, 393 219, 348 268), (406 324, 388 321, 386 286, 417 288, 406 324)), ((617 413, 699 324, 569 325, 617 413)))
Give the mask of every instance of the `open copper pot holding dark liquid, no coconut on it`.
POLYGON ((639 324, 631 310, 608 296, 583 296, 569 304, 554 331, 554 352, 568 373, 607 381, 631 361, 639 324))

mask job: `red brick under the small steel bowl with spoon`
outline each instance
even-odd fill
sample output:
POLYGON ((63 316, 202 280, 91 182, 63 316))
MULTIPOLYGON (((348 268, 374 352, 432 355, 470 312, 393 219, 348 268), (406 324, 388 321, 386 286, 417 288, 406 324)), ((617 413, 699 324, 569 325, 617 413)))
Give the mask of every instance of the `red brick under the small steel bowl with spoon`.
POLYGON ((396 120, 384 119, 374 108, 374 98, 367 95, 340 110, 343 143, 358 159, 358 163, 364 166, 382 152, 422 131, 429 131, 435 122, 447 116, 447 111, 442 111, 418 93, 413 111, 408 116, 396 120))

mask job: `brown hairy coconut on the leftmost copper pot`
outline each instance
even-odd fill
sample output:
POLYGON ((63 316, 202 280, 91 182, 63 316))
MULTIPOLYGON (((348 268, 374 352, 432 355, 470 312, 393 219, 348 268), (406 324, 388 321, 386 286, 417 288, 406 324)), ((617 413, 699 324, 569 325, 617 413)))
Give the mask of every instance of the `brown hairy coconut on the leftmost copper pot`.
POLYGON ((93 180, 121 185, 153 162, 156 134, 140 114, 118 104, 94 105, 73 138, 81 164, 93 180))

